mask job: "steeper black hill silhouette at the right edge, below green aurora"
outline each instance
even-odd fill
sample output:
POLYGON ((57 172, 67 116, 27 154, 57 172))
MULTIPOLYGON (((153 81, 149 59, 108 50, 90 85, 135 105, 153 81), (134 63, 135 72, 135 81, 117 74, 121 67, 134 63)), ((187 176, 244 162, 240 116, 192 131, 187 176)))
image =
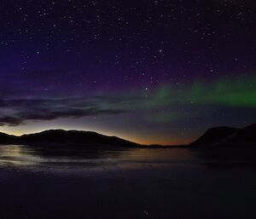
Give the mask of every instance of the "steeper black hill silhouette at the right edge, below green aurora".
POLYGON ((256 124, 243 129, 217 127, 207 130, 199 139, 191 143, 192 147, 208 146, 256 146, 256 124))

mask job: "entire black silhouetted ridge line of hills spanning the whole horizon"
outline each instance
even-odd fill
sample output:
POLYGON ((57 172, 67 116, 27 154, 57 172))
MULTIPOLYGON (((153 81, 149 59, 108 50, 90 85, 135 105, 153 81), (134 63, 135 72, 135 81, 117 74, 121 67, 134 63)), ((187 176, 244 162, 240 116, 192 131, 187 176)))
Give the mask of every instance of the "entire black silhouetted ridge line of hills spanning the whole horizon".
MULTIPOLYGON (((102 135, 84 130, 44 130, 20 136, 0 132, 0 144, 24 144, 50 147, 175 147, 142 145, 117 136, 102 135)), ((256 147, 256 124, 245 128, 213 127, 189 145, 180 147, 256 147)), ((177 146, 176 146, 177 147, 177 146)))

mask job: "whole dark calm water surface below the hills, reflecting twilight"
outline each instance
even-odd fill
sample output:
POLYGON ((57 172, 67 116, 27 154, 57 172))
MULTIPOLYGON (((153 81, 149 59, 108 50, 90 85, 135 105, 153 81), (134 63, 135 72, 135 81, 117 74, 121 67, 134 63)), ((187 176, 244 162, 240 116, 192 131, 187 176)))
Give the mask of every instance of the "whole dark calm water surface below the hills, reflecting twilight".
POLYGON ((0 218, 256 218, 255 154, 0 146, 0 218))

